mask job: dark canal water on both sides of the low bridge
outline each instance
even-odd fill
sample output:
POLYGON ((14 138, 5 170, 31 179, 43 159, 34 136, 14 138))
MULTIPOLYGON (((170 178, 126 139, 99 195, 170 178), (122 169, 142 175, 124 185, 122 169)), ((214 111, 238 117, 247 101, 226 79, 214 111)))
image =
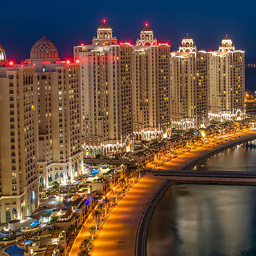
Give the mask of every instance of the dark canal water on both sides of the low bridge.
MULTIPOLYGON (((256 171, 255 145, 233 147, 194 169, 256 171)), ((170 187, 149 223, 147 256, 171 255, 256 255, 256 187, 170 187)))

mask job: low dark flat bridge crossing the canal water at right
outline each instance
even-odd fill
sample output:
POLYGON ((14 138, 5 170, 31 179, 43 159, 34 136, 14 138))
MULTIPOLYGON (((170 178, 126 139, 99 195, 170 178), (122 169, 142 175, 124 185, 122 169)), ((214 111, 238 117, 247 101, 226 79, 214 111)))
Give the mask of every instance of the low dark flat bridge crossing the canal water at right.
POLYGON ((194 171, 194 170, 149 170, 176 183, 200 183, 220 185, 256 185, 256 172, 194 171))

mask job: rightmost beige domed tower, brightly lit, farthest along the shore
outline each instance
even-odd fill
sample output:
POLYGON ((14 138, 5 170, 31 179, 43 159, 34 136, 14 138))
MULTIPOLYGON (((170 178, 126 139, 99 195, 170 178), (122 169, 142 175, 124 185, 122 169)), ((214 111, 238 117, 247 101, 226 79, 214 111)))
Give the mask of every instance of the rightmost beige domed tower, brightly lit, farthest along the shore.
POLYGON ((235 50, 225 37, 219 51, 208 53, 208 90, 210 120, 245 117, 244 51, 235 50))

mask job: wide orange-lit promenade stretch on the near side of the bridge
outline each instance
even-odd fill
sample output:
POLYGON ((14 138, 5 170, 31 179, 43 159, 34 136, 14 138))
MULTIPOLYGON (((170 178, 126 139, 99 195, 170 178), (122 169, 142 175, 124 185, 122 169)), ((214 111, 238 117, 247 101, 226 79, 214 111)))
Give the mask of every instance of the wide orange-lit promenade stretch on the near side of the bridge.
POLYGON ((93 256, 134 255, 135 237, 140 216, 147 202, 165 179, 147 174, 127 192, 109 214, 95 239, 93 256))

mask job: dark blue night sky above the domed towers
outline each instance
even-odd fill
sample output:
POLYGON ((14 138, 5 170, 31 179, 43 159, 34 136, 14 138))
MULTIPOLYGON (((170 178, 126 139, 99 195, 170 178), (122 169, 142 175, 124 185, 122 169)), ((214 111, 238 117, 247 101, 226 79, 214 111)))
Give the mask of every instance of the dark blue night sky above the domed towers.
POLYGON ((188 33, 199 50, 217 50, 228 34, 246 62, 256 62, 256 1, 1 1, 0 43, 8 58, 23 60, 44 35, 62 59, 73 46, 91 44, 103 18, 118 41, 136 42, 145 22, 176 51, 188 33))

